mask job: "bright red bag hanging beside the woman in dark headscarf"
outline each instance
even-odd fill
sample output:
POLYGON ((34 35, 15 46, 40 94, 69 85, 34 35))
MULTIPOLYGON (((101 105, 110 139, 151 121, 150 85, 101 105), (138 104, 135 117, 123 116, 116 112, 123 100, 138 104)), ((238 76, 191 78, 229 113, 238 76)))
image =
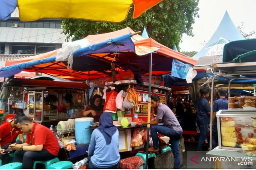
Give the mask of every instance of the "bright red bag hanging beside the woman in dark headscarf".
POLYGON ((106 102, 104 104, 103 110, 105 112, 116 113, 116 96, 117 92, 115 90, 111 90, 106 93, 106 102))

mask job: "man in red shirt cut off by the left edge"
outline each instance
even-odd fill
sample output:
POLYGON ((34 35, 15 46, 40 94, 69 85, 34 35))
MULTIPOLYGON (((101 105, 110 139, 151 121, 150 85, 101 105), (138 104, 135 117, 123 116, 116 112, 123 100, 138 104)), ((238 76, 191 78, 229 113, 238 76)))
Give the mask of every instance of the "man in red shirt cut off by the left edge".
MULTIPOLYGON (((16 120, 19 116, 24 114, 17 114, 14 117, 16 120)), ((4 123, 0 126, 0 158, 2 159, 2 165, 8 164, 10 162, 10 155, 4 154, 4 150, 10 151, 8 149, 10 143, 24 143, 23 133, 20 129, 16 128, 14 120, 11 122, 4 123), (19 136, 19 141, 16 142, 17 137, 19 136)), ((10 152, 9 152, 10 153, 10 152)))

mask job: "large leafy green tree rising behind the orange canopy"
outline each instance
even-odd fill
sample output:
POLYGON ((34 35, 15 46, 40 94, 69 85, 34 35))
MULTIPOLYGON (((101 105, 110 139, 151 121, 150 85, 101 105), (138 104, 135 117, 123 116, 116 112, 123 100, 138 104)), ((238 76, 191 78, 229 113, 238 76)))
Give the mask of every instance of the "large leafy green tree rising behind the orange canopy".
POLYGON ((164 0, 144 12, 139 18, 133 19, 133 6, 122 23, 96 22, 80 19, 63 19, 63 33, 67 39, 82 39, 90 34, 101 34, 130 27, 135 32, 145 27, 150 37, 159 43, 172 48, 179 43, 182 34, 194 36, 192 24, 198 15, 199 0, 164 0))

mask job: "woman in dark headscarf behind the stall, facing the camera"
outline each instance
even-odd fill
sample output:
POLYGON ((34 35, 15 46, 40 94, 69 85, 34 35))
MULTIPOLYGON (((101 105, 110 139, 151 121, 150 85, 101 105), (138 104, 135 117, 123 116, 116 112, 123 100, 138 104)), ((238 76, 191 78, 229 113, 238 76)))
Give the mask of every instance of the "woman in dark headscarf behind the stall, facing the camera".
POLYGON ((94 95, 91 99, 91 105, 87 106, 83 112, 82 117, 93 117, 94 122, 99 122, 100 115, 103 112, 102 99, 100 95, 94 95))

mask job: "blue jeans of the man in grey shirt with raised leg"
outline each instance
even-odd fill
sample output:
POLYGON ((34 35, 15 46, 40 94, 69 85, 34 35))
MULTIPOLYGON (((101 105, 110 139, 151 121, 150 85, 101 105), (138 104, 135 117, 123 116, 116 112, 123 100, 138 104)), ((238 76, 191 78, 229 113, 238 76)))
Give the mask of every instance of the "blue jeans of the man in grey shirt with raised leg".
POLYGON ((157 132, 170 137, 170 143, 172 145, 172 152, 174 155, 174 168, 179 169, 181 163, 181 155, 180 155, 180 137, 182 136, 182 132, 174 131, 173 128, 169 128, 167 126, 158 126, 153 125, 150 128, 151 137, 153 140, 153 146, 155 149, 159 148, 159 138, 157 132))

